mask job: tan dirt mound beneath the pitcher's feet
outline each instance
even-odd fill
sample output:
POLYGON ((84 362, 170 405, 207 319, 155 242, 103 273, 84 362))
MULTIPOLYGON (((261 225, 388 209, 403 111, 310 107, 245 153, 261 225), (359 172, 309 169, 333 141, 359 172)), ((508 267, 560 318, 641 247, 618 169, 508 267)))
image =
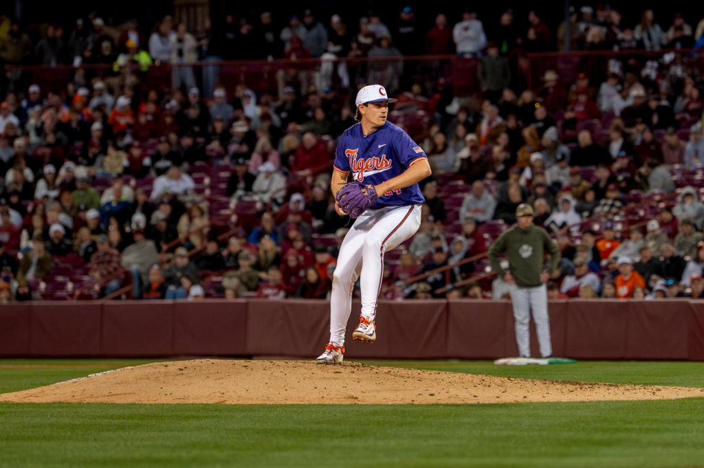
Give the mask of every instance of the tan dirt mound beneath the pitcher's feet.
POLYGON ((358 363, 190 360, 102 372, 0 395, 23 403, 517 403, 666 400, 704 396, 704 389, 591 384, 358 363))

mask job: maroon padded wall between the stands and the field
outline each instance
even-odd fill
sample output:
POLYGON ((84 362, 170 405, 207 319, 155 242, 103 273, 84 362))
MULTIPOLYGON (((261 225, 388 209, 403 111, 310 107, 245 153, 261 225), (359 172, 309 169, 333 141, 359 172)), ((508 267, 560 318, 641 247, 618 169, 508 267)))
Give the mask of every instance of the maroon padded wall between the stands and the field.
MULTIPOLYGON (((373 345, 348 358, 517 355, 509 301, 381 301, 373 345)), ((577 359, 704 360, 704 301, 551 301, 553 354, 577 359)), ((329 303, 37 302, 0 306, 0 357, 281 355, 310 358, 329 336, 329 303)), ((538 355, 531 324, 531 349, 538 355)))

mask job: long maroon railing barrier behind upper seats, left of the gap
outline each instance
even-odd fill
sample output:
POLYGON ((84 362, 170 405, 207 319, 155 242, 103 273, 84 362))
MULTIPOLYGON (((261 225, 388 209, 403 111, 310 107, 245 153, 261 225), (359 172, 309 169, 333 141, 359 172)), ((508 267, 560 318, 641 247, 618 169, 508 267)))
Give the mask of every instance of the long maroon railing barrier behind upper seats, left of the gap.
MULTIPOLYGON (((410 89, 410 84, 420 82, 430 90, 439 78, 453 83, 455 92, 470 94, 478 89, 477 59, 455 55, 441 56, 384 56, 299 58, 295 61, 222 61, 193 62, 186 64, 161 63, 149 65, 130 64, 116 71, 113 64, 73 65, 6 65, 8 90, 25 92, 30 84, 42 89, 66 89, 69 83, 90 86, 99 79, 108 89, 120 89, 126 82, 141 84, 144 89, 170 90, 175 87, 199 87, 203 96, 213 96, 216 85, 224 86, 229 93, 244 85, 258 93, 282 96, 284 88, 292 86, 298 94, 306 96, 308 87, 318 91, 330 87, 335 91, 357 89, 360 81, 384 84, 391 94, 410 89), (467 75, 468 70, 473 70, 467 75)), ((0 90, 1 91, 1 90, 0 90)))

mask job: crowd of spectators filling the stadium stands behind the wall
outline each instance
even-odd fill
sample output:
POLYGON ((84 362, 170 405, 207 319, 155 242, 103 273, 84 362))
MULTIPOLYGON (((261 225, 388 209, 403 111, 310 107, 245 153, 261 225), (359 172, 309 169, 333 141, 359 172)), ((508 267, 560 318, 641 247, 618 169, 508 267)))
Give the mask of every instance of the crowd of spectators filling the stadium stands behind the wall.
MULTIPOLYGON (((489 37, 470 11, 452 29, 439 15, 425 42, 412 27, 411 8, 401 11, 398 27, 372 14, 358 30, 340 26, 337 15, 328 30, 306 11, 278 31, 267 27, 270 16, 263 13, 257 25, 230 23, 235 33, 223 37, 253 54, 246 58, 315 57, 326 44, 345 55, 396 55, 388 51, 391 38, 398 53, 482 57, 482 91, 472 96, 455 96, 444 80, 432 89, 415 82, 397 90, 395 106, 429 116, 413 137, 433 175, 421 184, 427 202, 419 232, 386 255, 386 298, 505 298, 499 279, 438 292, 448 279, 483 272, 484 260, 403 282, 486 253, 524 202, 562 253, 548 284, 552 298, 702 297, 704 101, 700 77, 686 64, 610 63, 604 82, 580 73, 568 86, 548 70, 539 89, 512 89, 505 53, 560 44, 536 13, 524 37, 511 26, 510 11, 489 37), (242 45, 247 40, 251 47, 242 45), (666 201, 646 204, 635 220, 619 211, 653 194, 666 201)), ((675 18, 663 32, 646 11, 628 39, 619 19, 616 11, 597 8, 595 15, 583 7, 574 16, 575 44, 597 49, 590 44, 601 34, 610 38, 598 41, 610 44, 602 49, 628 40, 657 49, 669 47, 672 35, 690 37, 691 46, 704 28, 699 23, 693 32, 675 18)), ((31 84, 4 96, 0 301, 70 297, 56 277, 70 278, 74 288, 102 280, 102 296, 131 283, 132 296, 145 300, 327 297, 349 225, 329 194, 332 155, 354 123, 354 95, 366 80, 348 92, 308 84, 303 93, 297 82, 272 92, 237 84, 228 93, 214 84, 206 98, 206 77, 199 82, 189 68, 173 68, 171 89, 152 89, 139 75, 120 80, 120 67, 232 58, 225 53, 234 47, 213 46, 215 34, 195 39, 165 18, 146 41, 136 23, 113 36, 93 18, 91 31, 77 22, 66 45, 47 27, 32 46, 17 26, 0 41, 6 63, 30 56, 49 65, 99 61, 114 63, 115 75, 77 74, 65 89, 31 84), (217 55, 208 55, 211 48, 217 55), (210 224, 233 207, 225 229, 210 224)), ((390 120, 396 117, 403 125, 403 113, 390 120)))

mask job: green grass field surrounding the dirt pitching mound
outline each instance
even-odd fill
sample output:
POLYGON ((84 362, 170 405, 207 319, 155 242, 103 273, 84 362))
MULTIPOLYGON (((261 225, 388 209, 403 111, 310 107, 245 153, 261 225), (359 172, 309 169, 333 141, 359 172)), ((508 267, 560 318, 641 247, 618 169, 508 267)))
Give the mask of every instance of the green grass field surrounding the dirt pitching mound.
MULTIPOLYGON (((0 393, 144 362, 0 360, 0 393)), ((704 387, 698 362, 374 363, 704 387)), ((704 466, 703 414, 700 398, 419 406, 0 403, 0 466, 694 467, 704 466)))

